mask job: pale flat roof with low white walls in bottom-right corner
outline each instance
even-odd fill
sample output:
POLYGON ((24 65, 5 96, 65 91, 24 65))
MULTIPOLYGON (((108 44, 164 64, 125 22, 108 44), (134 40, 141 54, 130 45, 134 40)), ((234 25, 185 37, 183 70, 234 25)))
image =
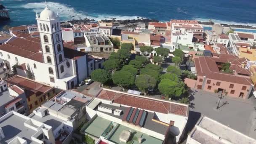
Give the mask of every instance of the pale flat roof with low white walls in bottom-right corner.
POLYGON ((204 115, 189 136, 202 144, 227 144, 226 141, 233 144, 255 144, 256 141, 204 115))

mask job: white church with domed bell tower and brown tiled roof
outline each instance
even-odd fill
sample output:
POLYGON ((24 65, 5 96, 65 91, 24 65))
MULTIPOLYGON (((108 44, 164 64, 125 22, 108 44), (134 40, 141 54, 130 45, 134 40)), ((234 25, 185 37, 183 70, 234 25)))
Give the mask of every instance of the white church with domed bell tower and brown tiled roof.
POLYGON ((71 89, 88 77, 87 54, 64 48, 59 14, 45 9, 36 15, 40 39, 35 37, 12 37, 0 45, 0 59, 5 68, 15 64, 18 75, 61 89, 71 89))

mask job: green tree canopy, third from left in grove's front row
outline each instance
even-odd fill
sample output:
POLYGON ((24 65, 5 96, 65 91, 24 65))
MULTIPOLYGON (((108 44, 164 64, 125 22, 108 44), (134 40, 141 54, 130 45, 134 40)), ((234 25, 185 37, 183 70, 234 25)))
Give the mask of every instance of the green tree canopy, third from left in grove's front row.
POLYGON ((157 80, 150 75, 139 75, 136 77, 135 85, 141 90, 147 93, 148 89, 155 88, 157 80))

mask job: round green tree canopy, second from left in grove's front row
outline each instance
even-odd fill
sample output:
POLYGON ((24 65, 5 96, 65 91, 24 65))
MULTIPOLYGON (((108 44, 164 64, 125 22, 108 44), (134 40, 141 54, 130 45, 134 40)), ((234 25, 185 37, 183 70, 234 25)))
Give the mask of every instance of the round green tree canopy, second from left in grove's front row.
POLYGON ((112 75, 112 80, 116 85, 121 86, 122 88, 127 88, 128 86, 131 86, 134 84, 134 75, 132 75, 130 72, 125 72, 123 70, 116 71, 112 75))

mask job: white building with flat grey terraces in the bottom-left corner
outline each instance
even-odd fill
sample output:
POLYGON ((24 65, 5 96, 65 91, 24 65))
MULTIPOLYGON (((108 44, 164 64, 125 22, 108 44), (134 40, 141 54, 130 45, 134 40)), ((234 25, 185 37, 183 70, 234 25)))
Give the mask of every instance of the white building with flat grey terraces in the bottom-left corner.
POLYGON ((0 118, 0 131, 1 144, 69 144, 73 128, 69 120, 38 107, 29 116, 8 112, 0 118))

